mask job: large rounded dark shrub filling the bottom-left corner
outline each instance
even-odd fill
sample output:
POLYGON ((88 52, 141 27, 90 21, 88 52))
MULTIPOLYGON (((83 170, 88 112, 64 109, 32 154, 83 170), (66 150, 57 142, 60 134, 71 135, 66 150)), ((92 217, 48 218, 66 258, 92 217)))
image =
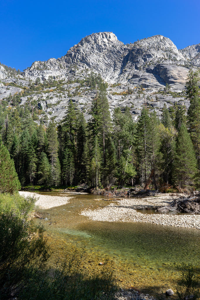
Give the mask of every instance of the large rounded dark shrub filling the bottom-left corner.
POLYGON ((18 296, 30 278, 44 271, 49 248, 43 227, 29 220, 33 201, 21 203, 21 216, 0 214, 0 299, 18 296))

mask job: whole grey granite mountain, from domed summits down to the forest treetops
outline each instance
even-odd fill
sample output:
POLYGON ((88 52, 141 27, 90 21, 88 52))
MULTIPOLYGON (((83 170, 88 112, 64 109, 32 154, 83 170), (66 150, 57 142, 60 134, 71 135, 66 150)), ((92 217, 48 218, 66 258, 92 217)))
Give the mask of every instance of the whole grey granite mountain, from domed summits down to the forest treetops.
POLYGON ((0 69, 3 82, 0 99, 17 92, 23 93, 25 87, 39 78, 43 87, 37 92, 30 91, 30 95, 27 95, 26 88, 21 105, 31 96, 38 107, 49 115, 49 119, 54 117, 59 121, 72 99, 88 119, 96 91, 88 89, 85 78, 94 72, 108 82, 107 97, 111 110, 116 106, 122 109, 128 106, 134 119, 137 119, 147 99, 150 110, 156 110, 160 115, 164 103, 167 106, 175 102, 189 106, 184 95, 185 82, 189 67, 200 66, 199 53, 200 44, 178 50, 169 38, 162 35, 124 45, 112 32, 93 33, 82 38, 61 58, 35 61, 20 74, 20 78, 6 75, 0 69), (49 78, 50 81, 62 82, 48 89, 44 85, 49 78), (166 84, 171 88, 170 93, 164 92, 166 84), (19 90, 16 91, 16 88, 19 90), (127 93, 128 88, 133 92, 127 93))

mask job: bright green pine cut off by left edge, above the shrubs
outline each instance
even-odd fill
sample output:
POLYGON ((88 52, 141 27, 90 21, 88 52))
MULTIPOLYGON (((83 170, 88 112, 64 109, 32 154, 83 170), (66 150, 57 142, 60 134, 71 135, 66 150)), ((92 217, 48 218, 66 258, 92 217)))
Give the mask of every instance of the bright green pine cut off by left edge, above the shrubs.
POLYGON ((14 193, 21 187, 13 160, 7 148, 0 141, 0 192, 14 193))

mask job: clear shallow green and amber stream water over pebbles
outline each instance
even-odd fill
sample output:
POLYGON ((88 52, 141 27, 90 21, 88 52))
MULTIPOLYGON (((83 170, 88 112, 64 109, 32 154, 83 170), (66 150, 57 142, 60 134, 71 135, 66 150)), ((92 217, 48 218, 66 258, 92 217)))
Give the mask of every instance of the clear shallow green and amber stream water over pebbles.
POLYGON ((199 268, 198 229, 151 223, 91 221, 79 213, 84 208, 104 207, 110 202, 93 200, 102 197, 95 195, 65 196, 73 197, 66 205, 37 210, 48 218, 37 219, 36 222, 41 222, 46 228, 54 251, 52 261, 64 256, 65 247, 72 251, 72 246, 86 246, 86 268, 95 271, 100 268, 99 262, 107 257, 113 262, 120 286, 133 285, 148 292, 175 286, 178 274, 176 265, 183 261, 199 268))

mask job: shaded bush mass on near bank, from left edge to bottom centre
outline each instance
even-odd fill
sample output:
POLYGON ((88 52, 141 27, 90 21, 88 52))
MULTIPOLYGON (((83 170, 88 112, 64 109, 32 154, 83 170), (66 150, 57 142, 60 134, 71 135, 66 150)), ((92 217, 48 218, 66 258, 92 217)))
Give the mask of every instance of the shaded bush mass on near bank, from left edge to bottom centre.
MULTIPOLYGON (((84 249, 47 268, 50 247, 42 226, 36 226, 29 211, 33 199, 19 205, 20 214, 0 214, 0 299, 17 300, 107 300, 114 299, 115 280, 109 264, 89 275, 84 249)), ((67 252, 67 251, 66 251, 67 252)))

